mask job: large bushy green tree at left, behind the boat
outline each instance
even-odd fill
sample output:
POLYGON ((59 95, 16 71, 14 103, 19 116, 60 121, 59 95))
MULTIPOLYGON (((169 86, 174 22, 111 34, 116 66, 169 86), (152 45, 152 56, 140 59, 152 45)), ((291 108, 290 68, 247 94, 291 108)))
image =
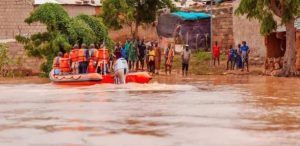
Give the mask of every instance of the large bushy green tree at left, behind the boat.
MULTIPOLYGON (((88 15, 71 18, 58 4, 40 5, 25 19, 25 22, 28 24, 39 22, 47 27, 45 32, 31 36, 16 36, 16 40, 24 44, 29 56, 45 60, 41 66, 45 75, 51 71, 53 58, 59 51, 69 51, 75 43, 101 44, 105 40, 110 40, 107 28, 99 18, 88 15)), ((114 42, 111 40, 105 44, 112 49, 114 42)))

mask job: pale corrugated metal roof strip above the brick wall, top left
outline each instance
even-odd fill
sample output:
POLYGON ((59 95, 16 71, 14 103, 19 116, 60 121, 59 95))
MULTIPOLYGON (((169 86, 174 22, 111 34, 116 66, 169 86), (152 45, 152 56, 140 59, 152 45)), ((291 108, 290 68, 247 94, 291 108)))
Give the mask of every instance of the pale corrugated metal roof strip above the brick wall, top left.
POLYGON ((35 5, 41 5, 45 3, 56 3, 62 5, 101 6, 101 0, 34 0, 35 5))

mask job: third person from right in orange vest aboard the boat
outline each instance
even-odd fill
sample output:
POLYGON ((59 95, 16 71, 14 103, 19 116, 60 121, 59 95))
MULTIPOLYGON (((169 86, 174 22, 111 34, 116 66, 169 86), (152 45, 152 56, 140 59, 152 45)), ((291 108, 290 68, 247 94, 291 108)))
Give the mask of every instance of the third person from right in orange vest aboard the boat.
POLYGON ((87 73, 87 67, 89 61, 89 51, 86 48, 85 44, 82 44, 81 48, 78 51, 78 63, 79 63, 79 73, 87 73))

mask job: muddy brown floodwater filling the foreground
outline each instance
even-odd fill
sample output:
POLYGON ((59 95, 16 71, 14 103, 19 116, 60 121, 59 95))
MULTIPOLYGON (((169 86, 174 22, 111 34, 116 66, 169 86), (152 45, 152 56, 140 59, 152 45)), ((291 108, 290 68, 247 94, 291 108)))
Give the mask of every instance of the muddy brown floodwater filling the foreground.
POLYGON ((0 84, 1 146, 297 146, 300 79, 0 84))

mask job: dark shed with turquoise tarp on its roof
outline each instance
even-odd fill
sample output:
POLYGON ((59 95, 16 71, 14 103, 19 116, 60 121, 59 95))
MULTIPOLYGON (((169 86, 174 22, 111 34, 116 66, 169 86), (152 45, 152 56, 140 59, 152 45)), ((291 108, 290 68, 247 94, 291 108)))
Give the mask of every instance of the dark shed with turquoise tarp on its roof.
POLYGON ((174 12, 158 18, 160 37, 174 38, 177 44, 188 44, 192 49, 210 46, 210 15, 203 12, 174 12))

